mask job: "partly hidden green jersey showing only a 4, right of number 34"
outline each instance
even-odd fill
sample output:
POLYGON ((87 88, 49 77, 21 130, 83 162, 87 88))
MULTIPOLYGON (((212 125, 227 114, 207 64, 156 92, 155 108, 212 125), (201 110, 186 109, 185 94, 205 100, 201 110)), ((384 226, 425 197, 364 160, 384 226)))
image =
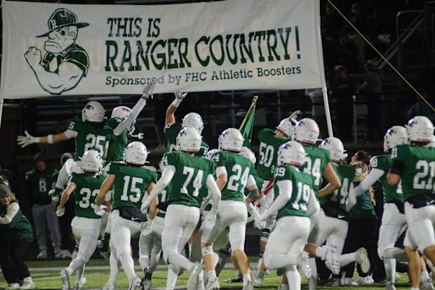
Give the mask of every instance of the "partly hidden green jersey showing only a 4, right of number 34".
POLYGON ((321 205, 326 202, 335 202, 338 207, 343 211, 346 211, 347 197, 349 197, 349 188, 351 186, 352 180, 354 180, 355 169, 349 165, 337 165, 332 163, 335 173, 337 173, 342 186, 335 190, 332 195, 319 198, 321 205))

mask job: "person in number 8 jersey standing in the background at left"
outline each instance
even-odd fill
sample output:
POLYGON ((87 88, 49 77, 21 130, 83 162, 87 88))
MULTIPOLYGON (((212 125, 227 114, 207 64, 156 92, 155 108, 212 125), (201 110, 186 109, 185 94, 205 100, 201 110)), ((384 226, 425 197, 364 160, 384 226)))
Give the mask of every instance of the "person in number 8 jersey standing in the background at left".
POLYGON ((61 257, 60 231, 58 217, 55 215, 56 207, 48 195, 53 187, 58 171, 46 168, 46 157, 38 152, 34 156, 35 167, 26 172, 27 195, 32 206, 34 227, 38 240, 39 254, 36 258, 48 257, 46 225, 50 231, 55 257, 61 257))

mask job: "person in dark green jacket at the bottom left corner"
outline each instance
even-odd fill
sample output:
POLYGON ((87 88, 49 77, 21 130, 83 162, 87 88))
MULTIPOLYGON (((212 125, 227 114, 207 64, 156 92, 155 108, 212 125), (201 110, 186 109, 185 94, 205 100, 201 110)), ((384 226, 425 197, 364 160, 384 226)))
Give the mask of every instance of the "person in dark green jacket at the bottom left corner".
POLYGON ((23 216, 18 199, 15 199, 8 185, 1 183, 0 265, 8 282, 7 289, 34 289, 29 269, 22 258, 32 239, 32 225, 23 216))

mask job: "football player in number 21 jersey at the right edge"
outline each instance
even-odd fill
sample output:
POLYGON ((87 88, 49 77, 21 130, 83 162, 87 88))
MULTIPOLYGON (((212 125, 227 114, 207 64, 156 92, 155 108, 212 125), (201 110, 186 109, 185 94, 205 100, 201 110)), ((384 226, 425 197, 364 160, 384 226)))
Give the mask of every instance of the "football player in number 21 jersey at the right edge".
POLYGON ((434 136, 434 125, 424 116, 408 121, 406 133, 410 144, 398 145, 391 151, 392 165, 387 175, 390 186, 401 185, 408 223, 405 253, 410 269, 411 289, 419 288, 421 251, 435 264, 435 149, 428 147, 434 136))

